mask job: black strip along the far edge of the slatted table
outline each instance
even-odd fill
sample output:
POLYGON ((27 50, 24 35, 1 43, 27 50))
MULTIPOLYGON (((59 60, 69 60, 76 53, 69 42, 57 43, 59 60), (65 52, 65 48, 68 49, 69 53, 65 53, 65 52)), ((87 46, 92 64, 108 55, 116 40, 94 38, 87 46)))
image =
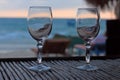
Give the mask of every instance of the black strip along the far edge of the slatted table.
MULTIPOLYGON (((92 56, 92 60, 106 60, 106 59, 118 59, 118 57, 114 56, 92 56)), ((36 57, 29 57, 29 58, 0 58, 0 61, 36 61, 36 57)), ((50 60, 85 60, 84 56, 71 56, 71 57, 43 57, 43 61, 50 61, 50 60)))

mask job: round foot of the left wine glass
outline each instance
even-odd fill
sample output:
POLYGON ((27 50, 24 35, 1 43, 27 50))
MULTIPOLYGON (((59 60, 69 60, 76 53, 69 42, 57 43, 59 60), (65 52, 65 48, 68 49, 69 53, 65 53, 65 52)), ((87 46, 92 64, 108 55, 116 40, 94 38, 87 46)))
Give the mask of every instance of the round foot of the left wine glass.
POLYGON ((51 69, 51 67, 45 66, 43 64, 39 64, 36 66, 29 67, 28 69, 35 71, 35 72, 42 72, 42 71, 48 71, 51 69))

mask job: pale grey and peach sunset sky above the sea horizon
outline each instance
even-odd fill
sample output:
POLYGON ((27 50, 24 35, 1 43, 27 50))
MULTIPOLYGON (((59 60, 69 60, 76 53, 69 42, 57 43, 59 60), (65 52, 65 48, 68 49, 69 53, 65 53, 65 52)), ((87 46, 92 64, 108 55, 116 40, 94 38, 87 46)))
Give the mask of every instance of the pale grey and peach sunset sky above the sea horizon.
MULTIPOLYGON (((78 7, 88 7, 85 0, 0 0, 0 17, 27 17, 30 6, 51 6, 53 17, 75 18, 78 7)), ((103 18, 112 13, 102 12, 103 18)))

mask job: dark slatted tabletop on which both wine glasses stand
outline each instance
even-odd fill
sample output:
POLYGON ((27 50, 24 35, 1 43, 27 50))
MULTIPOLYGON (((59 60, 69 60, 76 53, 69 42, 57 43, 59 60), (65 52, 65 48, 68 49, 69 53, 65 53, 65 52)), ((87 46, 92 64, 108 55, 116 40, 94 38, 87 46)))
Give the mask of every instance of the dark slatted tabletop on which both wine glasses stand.
POLYGON ((92 65, 96 71, 76 69, 85 64, 83 58, 44 58, 43 64, 52 69, 46 72, 33 72, 25 65, 36 65, 36 58, 0 59, 0 80, 120 80, 120 58, 96 58, 92 65))

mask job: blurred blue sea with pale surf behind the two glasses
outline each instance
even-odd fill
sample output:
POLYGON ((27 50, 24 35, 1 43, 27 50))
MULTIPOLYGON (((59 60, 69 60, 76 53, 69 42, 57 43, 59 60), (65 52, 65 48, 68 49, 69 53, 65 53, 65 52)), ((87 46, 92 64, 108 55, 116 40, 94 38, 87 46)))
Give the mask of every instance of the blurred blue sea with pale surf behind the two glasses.
MULTIPOLYGON (((27 30, 26 18, 0 18, 0 53, 9 53, 15 50, 28 50, 36 47, 36 41, 27 30)), ((106 31, 106 20, 100 21, 100 32, 106 31)), ((51 34, 64 36, 78 36, 73 18, 54 18, 51 34)))

